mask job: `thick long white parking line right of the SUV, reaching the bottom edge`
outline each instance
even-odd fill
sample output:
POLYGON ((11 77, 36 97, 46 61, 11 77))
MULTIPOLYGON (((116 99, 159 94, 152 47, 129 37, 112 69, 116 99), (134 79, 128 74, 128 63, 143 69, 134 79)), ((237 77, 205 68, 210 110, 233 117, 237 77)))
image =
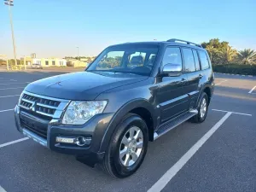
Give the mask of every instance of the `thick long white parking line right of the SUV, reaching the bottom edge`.
POLYGON ((228 112, 224 115, 222 119, 215 124, 211 130, 207 131, 207 133, 201 137, 201 139, 189 148, 186 154, 183 154, 182 158, 177 160, 177 162, 162 176, 160 179, 154 183, 154 185, 148 189, 148 192, 160 192, 162 189, 166 187, 166 184, 169 183, 172 178, 179 172, 183 166, 191 159, 191 157, 198 151, 201 146, 207 142, 207 140, 212 136, 212 134, 218 130, 218 128, 224 124, 224 121, 230 117, 232 113, 228 112))

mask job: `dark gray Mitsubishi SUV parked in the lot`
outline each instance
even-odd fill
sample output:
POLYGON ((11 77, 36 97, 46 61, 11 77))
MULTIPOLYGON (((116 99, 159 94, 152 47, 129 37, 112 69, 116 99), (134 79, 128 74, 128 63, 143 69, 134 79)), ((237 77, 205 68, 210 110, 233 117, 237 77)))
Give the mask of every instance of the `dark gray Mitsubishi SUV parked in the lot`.
POLYGON ((148 142, 207 117, 211 61, 179 39, 109 46, 90 66, 28 84, 15 107, 18 131, 113 177, 137 171, 148 142))

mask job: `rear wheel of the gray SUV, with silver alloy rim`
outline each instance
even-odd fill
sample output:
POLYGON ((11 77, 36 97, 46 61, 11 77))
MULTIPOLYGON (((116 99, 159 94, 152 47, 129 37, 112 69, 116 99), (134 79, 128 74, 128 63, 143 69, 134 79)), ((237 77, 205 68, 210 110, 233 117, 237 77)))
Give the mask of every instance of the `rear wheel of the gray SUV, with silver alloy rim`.
POLYGON ((207 118, 207 112, 208 112, 208 107, 209 107, 209 99, 208 96, 205 92, 203 92, 200 96, 199 100, 199 106, 197 108, 198 113, 191 119, 193 123, 202 123, 205 121, 207 118), (202 103, 205 104, 202 104, 202 103), (204 110, 201 110, 202 108, 205 108, 204 110), (204 113, 202 113, 204 111, 204 113), (203 114, 203 115, 202 115, 203 114))

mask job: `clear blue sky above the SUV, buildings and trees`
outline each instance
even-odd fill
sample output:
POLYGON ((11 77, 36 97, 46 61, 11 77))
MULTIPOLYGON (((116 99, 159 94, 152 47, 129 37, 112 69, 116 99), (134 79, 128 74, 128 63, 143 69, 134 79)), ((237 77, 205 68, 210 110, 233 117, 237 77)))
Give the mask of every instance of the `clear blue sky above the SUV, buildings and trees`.
MULTIPOLYGON (((3 1, 3 0, 2 0, 3 1)), ((256 49, 256 0, 14 0, 18 58, 98 55, 111 44, 219 38, 256 49)), ((14 57, 9 9, 0 5, 0 55, 14 57)))

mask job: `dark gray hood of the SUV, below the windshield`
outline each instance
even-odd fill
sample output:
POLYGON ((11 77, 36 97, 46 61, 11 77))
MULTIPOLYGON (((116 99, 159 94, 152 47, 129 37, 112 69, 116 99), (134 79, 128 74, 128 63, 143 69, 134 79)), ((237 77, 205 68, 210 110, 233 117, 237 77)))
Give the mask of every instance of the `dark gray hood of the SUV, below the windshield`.
POLYGON ((68 73, 46 79, 40 79, 25 88, 26 91, 67 100, 94 100, 96 96, 125 84, 143 81, 148 77, 134 74, 115 73, 68 73))

